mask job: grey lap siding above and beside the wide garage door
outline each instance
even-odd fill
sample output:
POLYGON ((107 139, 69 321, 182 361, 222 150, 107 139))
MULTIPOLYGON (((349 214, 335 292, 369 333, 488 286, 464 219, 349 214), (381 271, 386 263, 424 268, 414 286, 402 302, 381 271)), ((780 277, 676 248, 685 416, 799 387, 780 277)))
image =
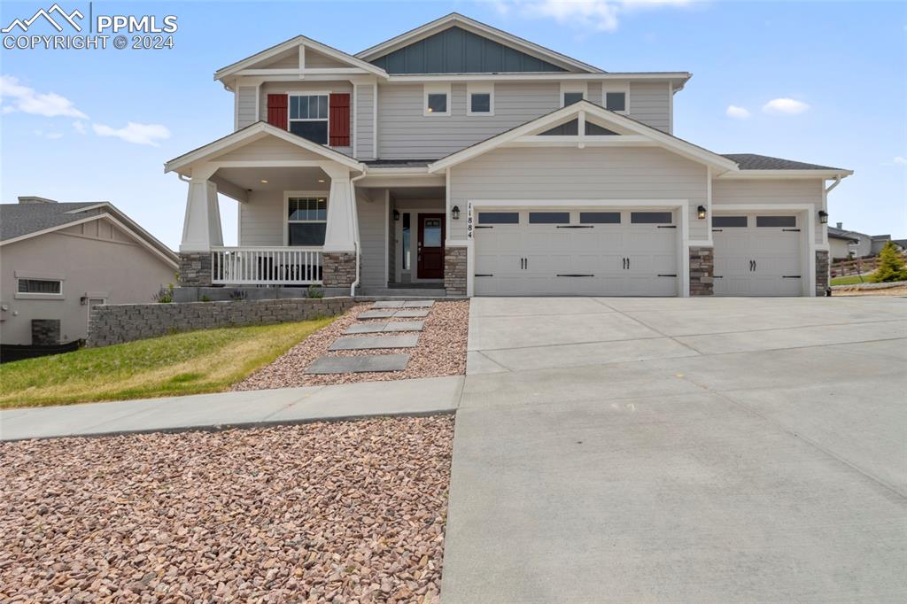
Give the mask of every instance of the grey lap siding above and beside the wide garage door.
MULTIPOLYGON (((688 200, 689 239, 707 240, 697 206, 707 202, 706 166, 651 147, 503 148, 451 169, 450 205, 470 200, 688 200), (553 152, 552 152, 553 151, 553 152)), ((462 215, 465 216, 465 213, 462 215)), ((450 239, 466 239, 466 220, 450 239)))

